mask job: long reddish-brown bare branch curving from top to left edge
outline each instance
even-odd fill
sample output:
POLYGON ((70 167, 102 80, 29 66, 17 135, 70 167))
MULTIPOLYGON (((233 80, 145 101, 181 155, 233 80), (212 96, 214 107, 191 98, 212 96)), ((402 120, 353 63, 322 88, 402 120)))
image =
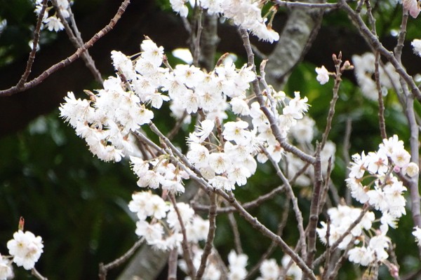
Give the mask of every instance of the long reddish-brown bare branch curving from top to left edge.
POLYGON ((70 55, 66 59, 63 59, 61 62, 54 64, 50 68, 46 69, 46 71, 41 73, 41 75, 34 78, 33 80, 30 80, 27 83, 24 83, 23 85, 19 85, 18 83, 17 85, 14 85, 13 87, 8 88, 7 90, 0 90, 0 97, 11 96, 18 92, 22 92, 36 85, 39 85, 55 71, 58 71, 62 69, 63 67, 69 64, 72 64, 72 62, 74 62, 76 59, 81 57, 83 52, 88 50, 88 48, 91 48, 100 38, 105 36, 105 34, 107 34, 109 31, 111 31, 114 28, 116 23, 120 20, 121 15, 123 15, 123 13, 126 11, 126 8, 129 3, 130 3, 130 0, 124 0, 120 5, 119 10, 117 10, 117 13, 114 15, 114 18, 112 18, 109 21, 109 24, 106 25, 104 28, 102 28, 100 31, 98 31, 98 33, 96 33, 89 41, 84 43, 80 48, 78 48, 76 52, 74 52, 73 55, 70 55))

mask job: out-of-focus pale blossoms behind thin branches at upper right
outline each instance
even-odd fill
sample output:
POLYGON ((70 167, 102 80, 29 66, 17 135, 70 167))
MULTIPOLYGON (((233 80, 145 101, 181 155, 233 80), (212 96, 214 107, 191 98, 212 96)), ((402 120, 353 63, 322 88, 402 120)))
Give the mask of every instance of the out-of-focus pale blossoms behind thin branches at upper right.
MULTIPOLYGON (((352 64, 354 65, 354 73, 356 80, 361 88, 361 92, 365 97, 371 100, 377 100, 377 87, 375 80, 373 80, 373 74, 375 72, 375 56, 371 52, 366 52, 363 55, 353 55, 352 64)), ((401 83, 399 83, 399 74, 396 73, 394 66, 387 62, 384 66, 379 69, 380 73, 380 85, 382 91, 387 92, 389 89, 394 89, 397 92, 401 89, 401 83)))

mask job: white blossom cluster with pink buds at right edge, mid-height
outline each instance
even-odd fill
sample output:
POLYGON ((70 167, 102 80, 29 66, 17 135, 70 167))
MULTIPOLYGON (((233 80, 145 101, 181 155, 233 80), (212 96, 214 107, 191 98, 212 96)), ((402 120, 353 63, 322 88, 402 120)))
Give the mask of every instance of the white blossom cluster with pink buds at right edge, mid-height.
POLYGON ((387 225, 394 227, 396 219, 406 214, 403 197, 406 187, 393 172, 408 176, 419 172, 418 165, 410 162, 403 141, 396 135, 383 139, 378 151, 353 155, 349 169, 346 181, 352 197, 382 212, 382 232, 387 231, 387 225))

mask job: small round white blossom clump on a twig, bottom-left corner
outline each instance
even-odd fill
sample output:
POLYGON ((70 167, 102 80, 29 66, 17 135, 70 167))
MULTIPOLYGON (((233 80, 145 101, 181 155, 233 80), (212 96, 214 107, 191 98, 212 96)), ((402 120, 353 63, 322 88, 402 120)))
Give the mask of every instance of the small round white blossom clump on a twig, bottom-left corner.
POLYGON ((18 267, 25 269, 34 268, 35 262, 39 260, 44 245, 41 237, 35 237, 32 232, 19 230, 13 234, 13 239, 7 242, 9 253, 13 256, 13 262, 18 267))

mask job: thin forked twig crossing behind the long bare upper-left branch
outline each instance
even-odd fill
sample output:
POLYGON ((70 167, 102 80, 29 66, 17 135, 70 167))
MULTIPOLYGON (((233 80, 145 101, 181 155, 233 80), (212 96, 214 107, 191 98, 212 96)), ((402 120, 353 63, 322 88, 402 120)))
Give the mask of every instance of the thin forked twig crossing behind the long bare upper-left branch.
MULTIPOLYGON (((51 0, 51 2, 53 3, 53 6, 55 8, 55 12, 58 15, 58 18, 60 18, 60 21, 65 27, 65 31, 70 41, 72 42, 72 44, 74 45, 76 49, 80 48, 83 45, 83 41, 81 38, 81 33, 79 32, 79 29, 76 26, 76 21, 74 20, 74 15, 72 13, 72 8, 70 8, 70 5, 69 5, 69 7, 67 8, 67 11, 69 12, 69 16, 71 17, 72 27, 73 27, 74 32, 72 28, 69 26, 69 23, 67 23, 67 20, 63 17, 61 10, 58 7, 57 0, 51 0)), ((95 80, 102 85, 102 83, 104 83, 104 80, 102 80, 101 73, 96 68, 95 62, 93 61, 93 58, 89 54, 89 51, 86 50, 85 52, 82 53, 81 56, 82 56, 83 62, 85 62, 86 67, 89 69, 89 71, 91 71, 95 80)))

